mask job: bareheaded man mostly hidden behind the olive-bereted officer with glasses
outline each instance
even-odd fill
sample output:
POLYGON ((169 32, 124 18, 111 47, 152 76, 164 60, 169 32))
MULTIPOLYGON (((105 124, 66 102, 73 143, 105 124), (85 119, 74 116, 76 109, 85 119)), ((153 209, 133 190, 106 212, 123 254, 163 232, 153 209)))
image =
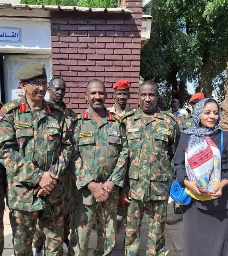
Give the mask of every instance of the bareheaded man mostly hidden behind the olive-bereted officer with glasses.
MULTIPOLYGON (((65 114, 65 122, 67 127, 69 128, 69 132, 72 133, 73 126, 71 123, 71 119, 76 116, 75 112, 71 108, 67 108, 65 103, 63 102, 63 98, 65 96, 66 91, 66 84, 63 78, 61 77, 54 77, 50 80, 50 84, 48 86, 48 92, 50 95, 49 102, 51 102, 50 106, 55 106, 55 108, 60 107, 65 114)), ((64 181, 64 202, 63 202, 63 211, 64 211, 64 236, 63 236, 63 252, 67 254, 67 250, 69 247, 69 225, 70 225, 70 214, 68 210, 68 203, 69 203, 69 187, 70 187, 70 174, 68 168, 66 168, 65 172, 63 173, 63 181, 64 181)), ((44 239, 44 232, 42 231, 42 227, 38 222, 36 226, 36 233, 34 236, 34 256, 42 256, 42 247, 43 247, 43 240, 44 239)))

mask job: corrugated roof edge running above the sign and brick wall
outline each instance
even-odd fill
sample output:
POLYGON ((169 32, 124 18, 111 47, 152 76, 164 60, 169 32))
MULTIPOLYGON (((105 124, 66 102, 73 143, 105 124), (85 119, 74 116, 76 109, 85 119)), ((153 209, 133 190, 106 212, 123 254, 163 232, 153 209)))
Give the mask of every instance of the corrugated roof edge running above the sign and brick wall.
POLYGON ((79 6, 29 5, 29 4, 8 4, 8 3, 0 3, 0 9, 131 13, 130 10, 125 8, 91 8, 91 7, 79 7, 79 6))

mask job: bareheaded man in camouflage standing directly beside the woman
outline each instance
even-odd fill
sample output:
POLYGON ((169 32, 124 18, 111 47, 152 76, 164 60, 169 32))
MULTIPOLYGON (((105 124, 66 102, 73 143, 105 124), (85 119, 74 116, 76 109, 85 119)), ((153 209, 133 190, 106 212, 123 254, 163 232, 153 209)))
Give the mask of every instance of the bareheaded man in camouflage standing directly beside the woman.
POLYGON ((157 86, 145 81, 139 88, 140 107, 125 118, 129 146, 129 186, 125 255, 139 255, 141 220, 147 215, 147 256, 165 255, 165 220, 173 168, 171 158, 179 138, 174 118, 157 105, 157 86))

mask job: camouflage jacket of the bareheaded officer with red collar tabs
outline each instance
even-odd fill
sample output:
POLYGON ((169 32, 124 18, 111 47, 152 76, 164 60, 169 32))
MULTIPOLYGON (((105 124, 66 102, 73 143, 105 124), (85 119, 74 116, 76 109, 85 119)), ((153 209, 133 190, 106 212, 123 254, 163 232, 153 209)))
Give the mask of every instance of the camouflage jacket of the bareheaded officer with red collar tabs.
MULTIPOLYGON (((72 120, 75 124, 73 140, 75 150, 75 193, 81 195, 78 200, 91 205, 95 202, 87 184, 91 181, 113 182, 113 196, 119 196, 119 187, 123 186, 129 150, 126 132, 117 115, 107 111, 107 115, 98 125, 89 109, 83 115, 72 120), (115 119, 115 118, 116 119, 115 119)), ((77 198, 75 197, 77 200, 77 198)))

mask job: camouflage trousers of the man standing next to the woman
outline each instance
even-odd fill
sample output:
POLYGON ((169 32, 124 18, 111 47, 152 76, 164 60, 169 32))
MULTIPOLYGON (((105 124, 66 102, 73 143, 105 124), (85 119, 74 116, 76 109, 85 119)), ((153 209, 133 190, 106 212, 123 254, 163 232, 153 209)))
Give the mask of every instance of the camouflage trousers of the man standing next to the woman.
POLYGON ((131 199, 127 212, 125 256, 138 256, 141 221, 145 214, 149 226, 147 256, 165 256, 165 221, 168 200, 139 201, 131 199))

